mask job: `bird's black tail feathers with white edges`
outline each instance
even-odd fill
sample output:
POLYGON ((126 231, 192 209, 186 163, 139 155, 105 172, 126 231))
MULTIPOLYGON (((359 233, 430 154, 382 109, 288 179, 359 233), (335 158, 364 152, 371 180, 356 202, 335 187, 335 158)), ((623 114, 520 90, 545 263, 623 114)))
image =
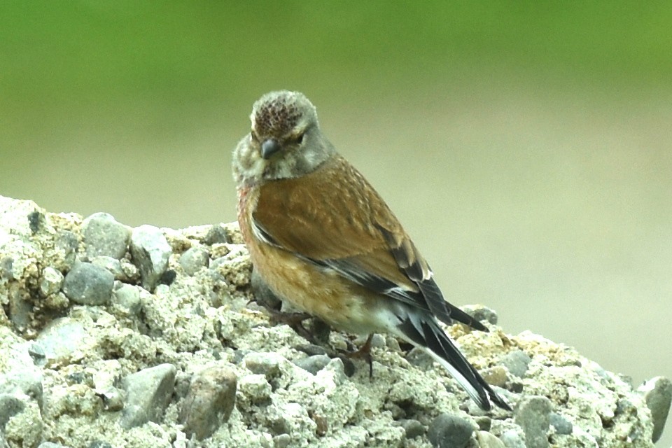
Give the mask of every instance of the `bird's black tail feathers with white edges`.
POLYGON ((507 411, 512 410, 485 382, 428 313, 410 312, 402 318, 402 323, 397 328, 399 337, 426 351, 448 370, 479 407, 489 410, 492 407, 491 403, 494 403, 507 411))

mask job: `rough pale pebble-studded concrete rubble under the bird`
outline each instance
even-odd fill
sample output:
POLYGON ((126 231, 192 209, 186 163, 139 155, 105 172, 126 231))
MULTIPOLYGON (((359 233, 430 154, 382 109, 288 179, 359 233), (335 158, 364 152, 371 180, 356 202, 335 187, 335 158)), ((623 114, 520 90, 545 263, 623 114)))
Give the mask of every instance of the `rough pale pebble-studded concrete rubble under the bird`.
POLYGON ((390 335, 370 378, 333 358, 358 339, 312 345, 249 303, 240 243, 235 223, 130 229, 0 197, 0 447, 649 448, 664 428, 668 379, 635 390, 479 306, 490 332, 446 330, 514 412, 390 335))

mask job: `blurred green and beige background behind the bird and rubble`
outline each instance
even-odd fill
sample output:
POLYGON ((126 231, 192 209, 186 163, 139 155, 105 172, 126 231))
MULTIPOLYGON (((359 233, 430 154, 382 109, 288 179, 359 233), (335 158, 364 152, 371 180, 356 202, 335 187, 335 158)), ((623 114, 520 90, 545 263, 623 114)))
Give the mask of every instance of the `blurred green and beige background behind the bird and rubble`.
POLYGON ((234 221, 251 104, 300 90, 449 300, 672 376, 671 30, 669 2, 4 1, 0 194, 234 221))

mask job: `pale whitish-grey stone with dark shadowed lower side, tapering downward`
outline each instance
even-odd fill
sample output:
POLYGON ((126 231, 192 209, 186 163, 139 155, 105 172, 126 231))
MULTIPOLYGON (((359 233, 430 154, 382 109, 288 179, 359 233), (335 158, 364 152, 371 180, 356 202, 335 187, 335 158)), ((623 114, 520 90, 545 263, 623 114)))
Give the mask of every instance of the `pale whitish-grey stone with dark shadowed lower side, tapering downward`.
POLYGON ((142 287, 153 291, 159 279, 168 269, 172 249, 165 235, 153 225, 141 225, 131 234, 131 254, 140 269, 142 287))

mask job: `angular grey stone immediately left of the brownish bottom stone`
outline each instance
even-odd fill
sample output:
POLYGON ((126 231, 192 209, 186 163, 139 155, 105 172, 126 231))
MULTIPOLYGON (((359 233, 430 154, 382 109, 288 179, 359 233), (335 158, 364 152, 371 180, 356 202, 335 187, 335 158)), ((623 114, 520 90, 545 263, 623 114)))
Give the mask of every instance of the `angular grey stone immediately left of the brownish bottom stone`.
POLYGON ((126 391, 126 405, 120 424, 129 429, 148 421, 159 423, 170 402, 175 386, 176 368, 160 364, 128 375, 121 381, 126 391))

